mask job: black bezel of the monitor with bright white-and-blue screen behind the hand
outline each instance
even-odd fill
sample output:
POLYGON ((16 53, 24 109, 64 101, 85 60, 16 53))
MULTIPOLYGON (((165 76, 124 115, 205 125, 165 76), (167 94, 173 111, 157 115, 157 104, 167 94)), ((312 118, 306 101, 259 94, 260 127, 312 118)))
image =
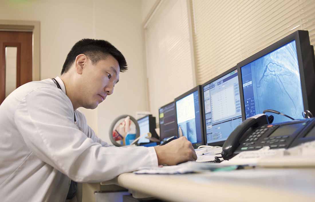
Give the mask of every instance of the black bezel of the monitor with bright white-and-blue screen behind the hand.
MULTIPOLYGON (((179 97, 175 98, 174 99, 174 103, 175 103, 175 121, 176 121, 176 127, 178 126, 178 123, 177 123, 177 107, 176 107, 176 101, 180 100, 181 98, 184 98, 186 97, 187 95, 191 94, 192 92, 195 92, 195 91, 198 91, 198 95, 199 95, 199 109, 200 109, 200 128, 201 128, 201 141, 202 142, 197 142, 197 143, 192 143, 192 146, 194 148, 198 148, 198 146, 200 145, 204 145, 204 133, 203 133, 203 119, 202 119, 202 116, 203 116, 203 109, 202 109, 202 104, 201 104, 201 101, 203 100, 202 98, 202 93, 201 93, 201 85, 198 85, 194 88, 192 88, 191 90, 185 92, 184 94, 180 95, 179 97)), ((179 134, 178 134, 178 130, 177 131, 177 137, 179 137, 179 134)))

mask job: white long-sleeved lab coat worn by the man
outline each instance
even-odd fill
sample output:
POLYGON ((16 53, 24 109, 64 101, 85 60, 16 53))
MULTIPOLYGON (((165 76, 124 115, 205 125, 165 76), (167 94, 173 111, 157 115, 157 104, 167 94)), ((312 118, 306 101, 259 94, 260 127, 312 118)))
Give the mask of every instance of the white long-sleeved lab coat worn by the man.
POLYGON ((109 146, 78 110, 75 125, 65 86, 56 80, 62 90, 51 79, 34 81, 0 105, 1 201, 65 201, 70 179, 100 182, 157 166, 153 147, 109 146))

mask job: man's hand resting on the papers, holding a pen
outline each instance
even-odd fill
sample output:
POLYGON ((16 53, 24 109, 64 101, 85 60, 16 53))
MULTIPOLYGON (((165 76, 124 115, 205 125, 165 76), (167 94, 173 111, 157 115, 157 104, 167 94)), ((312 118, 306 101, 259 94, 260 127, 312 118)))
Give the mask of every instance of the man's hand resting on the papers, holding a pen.
POLYGON ((156 146, 158 164, 177 165, 186 161, 197 160, 192 143, 186 137, 180 137, 163 146, 156 146))

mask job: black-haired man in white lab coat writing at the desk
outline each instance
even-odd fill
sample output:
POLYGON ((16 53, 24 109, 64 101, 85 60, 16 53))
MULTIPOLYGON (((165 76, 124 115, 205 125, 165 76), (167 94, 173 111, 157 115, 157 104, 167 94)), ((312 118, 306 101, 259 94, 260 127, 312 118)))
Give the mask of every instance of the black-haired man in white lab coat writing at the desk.
POLYGON ((124 56, 104 40, 83 39, 61 76, 17 88, 0 105, 2 201, 65 201, 71 180, 100 182, 142 166, 196 160, 179 138, 158 147, 110 147, 79 107, 95 109, 114 91, 124 56))

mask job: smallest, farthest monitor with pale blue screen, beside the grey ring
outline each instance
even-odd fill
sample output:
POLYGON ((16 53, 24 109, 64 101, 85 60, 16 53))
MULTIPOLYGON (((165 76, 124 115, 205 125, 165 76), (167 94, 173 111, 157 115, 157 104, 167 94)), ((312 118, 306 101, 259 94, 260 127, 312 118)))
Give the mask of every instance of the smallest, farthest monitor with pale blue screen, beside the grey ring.
MULTIPOLYGON (((152 137, 158 138, 157 133, 155 132, 156 122, 155 117, 152 115, 144 116, 137 120, 140 128, 140 136, 143 134, 151 133, 152 137)), ((142 137, 138 140, 138 144, 142 145, 144 143, 149 143, 150 140, 146 137, 142 137)))

